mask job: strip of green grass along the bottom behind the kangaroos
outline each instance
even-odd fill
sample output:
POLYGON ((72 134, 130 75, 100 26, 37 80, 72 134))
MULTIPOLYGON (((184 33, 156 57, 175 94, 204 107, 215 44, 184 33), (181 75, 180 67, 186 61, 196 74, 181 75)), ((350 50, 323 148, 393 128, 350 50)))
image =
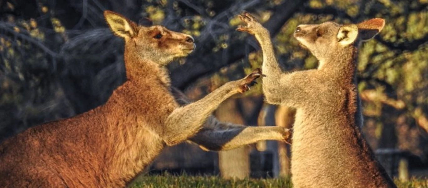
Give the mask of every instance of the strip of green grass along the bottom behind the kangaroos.
MULTIPOLYGON (((395 180, 398 188, 428 188, 428 179, 395 180)), ((292 188, 288 178, 225 180, 218 176, 141 176, 131 188, 292 188)))

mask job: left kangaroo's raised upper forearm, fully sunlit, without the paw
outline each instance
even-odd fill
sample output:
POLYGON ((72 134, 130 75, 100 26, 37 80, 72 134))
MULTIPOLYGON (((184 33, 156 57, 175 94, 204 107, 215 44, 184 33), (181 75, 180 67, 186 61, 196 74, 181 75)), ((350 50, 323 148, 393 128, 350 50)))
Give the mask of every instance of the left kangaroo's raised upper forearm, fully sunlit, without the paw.
POLYGON ((166 128, 161 135, 165 142, 168 145, 174 145, 196 134, 221 102, 236 93, 232 83, 226 83, 199 101, 172 111, 166 120, 166 128))

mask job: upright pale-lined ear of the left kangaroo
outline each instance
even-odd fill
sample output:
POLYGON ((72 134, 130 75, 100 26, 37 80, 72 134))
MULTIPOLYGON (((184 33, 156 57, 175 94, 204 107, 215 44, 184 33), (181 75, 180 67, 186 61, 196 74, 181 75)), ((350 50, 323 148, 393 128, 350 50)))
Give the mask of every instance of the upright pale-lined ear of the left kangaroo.
POLYGON ((128 20, 128 18, 108 10, 104 11, 104 18, 110 26, 110 29, 117 36, 127 39, 137 35, 137 24, 128 20))

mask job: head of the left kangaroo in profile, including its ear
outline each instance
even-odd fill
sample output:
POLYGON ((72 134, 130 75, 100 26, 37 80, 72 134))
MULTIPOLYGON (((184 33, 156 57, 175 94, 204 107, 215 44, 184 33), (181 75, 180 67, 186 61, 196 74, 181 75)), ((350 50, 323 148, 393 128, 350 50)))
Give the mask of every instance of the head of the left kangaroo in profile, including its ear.
POLYGON ((125 51, 144 60, 167 65, 175 58, 187 56, 196 47, 192 36, 163 26, 138 25, 112 11, 104 11, 104 17, 113 33, 125 39, 125 51))

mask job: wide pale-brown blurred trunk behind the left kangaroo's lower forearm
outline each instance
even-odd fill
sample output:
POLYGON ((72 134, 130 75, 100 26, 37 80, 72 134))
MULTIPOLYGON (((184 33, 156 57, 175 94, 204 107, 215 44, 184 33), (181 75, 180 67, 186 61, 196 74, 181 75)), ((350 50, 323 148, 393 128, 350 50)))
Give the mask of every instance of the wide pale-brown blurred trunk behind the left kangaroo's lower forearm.
MULTIPOLYGON (((238 110, 237 98, 229 98, 217 108, 216 116, 220 121, 244 124, 244 118, 238 110)), ((250 175, 250 147, 218 152, 219 169, 224 179, 244 179, 250 175)))

